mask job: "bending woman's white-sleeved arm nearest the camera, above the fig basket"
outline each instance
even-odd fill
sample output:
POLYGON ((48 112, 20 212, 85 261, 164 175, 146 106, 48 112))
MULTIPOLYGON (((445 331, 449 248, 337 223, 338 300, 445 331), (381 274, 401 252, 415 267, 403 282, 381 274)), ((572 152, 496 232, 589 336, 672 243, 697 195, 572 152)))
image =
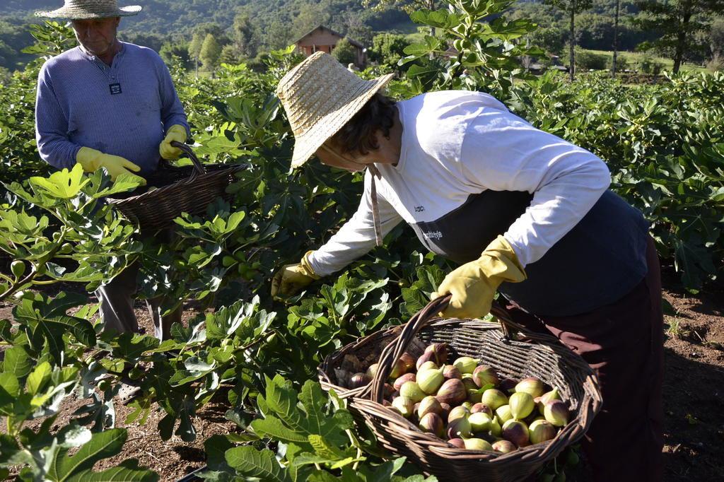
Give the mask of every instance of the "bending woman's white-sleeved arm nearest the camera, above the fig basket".
POLYGON ((523 266, 538 261, 571 231, 611 180, 593 153, 504 111, 481 114, 468 126, 460 164, 468 182, 534 195, 504 234, 523 266))

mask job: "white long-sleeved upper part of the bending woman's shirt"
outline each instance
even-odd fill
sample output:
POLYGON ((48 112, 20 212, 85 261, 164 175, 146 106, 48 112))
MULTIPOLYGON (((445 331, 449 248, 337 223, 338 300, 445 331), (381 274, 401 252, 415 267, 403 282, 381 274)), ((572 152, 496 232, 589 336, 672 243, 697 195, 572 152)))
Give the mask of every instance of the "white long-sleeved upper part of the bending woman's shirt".
MULTIPOLYGON (((442 219, 486 190, 524 191, 533 195, 530 206, 504 236, 526 266, 571 231, 610 185, 600 158, 536 129, 486 93, 426 93, 397 109, 400 161, 375 164, 383 236, 400 221, 442 219)), ((310 256, 317 274, 332 274, 374 247, 369 172, 364 185, 358 211, 310 256)))

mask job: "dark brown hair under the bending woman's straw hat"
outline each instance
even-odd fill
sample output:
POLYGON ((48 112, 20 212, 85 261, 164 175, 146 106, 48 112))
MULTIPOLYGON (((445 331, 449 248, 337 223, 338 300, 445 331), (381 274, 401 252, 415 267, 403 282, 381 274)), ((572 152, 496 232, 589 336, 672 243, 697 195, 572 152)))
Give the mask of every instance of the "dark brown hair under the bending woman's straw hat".
POLYGON ((338 145, 342 152, 358 151, 361 154, 379 149, 375 132, 382 131, 386 138, 390 138, 390 129, 395 123, 395 101, 376 93, 367 103, 345 124, 337 134, 332 136, 332 142, 338 145))

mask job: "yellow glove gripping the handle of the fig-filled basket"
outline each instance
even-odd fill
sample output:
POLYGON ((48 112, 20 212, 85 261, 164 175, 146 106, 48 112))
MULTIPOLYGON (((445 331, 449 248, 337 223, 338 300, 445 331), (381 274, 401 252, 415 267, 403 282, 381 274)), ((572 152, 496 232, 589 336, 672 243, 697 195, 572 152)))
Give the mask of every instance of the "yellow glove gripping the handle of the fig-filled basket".
POLYGON ((430 297, 452 295, 443 318, 481 318, 490 311, 495 290, 502 282, 518 283, 526 271, 504 237, 493 240, 476 261, 465 263, 445 276, 430 297))

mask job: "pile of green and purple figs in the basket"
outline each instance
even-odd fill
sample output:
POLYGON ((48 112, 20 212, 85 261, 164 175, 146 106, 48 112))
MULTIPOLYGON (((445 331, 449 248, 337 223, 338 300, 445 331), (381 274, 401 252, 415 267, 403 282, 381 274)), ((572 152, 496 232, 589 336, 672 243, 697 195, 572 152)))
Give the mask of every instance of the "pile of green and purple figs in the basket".
MULTIPOLYGON (((434 343, 417 359, 403 354, 385 385, 384 405, 460 449, 508 453, 553 439, 568 424, 557 389, 533 377, 501 379, 471 357, 448 363, 448 352, 446 343, 434 343)), ((353 375, 350 388, 369 384, 377 368, 353 375)))

